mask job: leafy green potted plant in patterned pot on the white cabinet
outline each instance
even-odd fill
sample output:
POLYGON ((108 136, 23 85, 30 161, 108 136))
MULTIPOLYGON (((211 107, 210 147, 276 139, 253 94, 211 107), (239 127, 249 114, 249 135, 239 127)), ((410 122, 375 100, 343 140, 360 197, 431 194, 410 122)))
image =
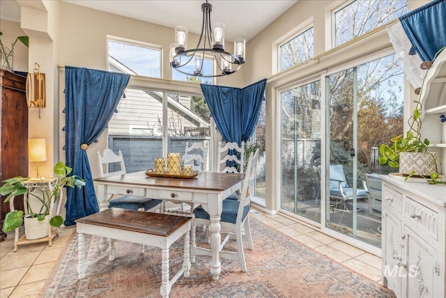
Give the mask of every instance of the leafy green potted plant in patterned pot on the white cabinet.
POLYGON ((408 119, 409 130, 406 137, 403 137, 403 134, 394 136, 390 140, 392 141, 391 146, 381 144, 378 162, 382 165, 388 164, 392 168, 399 167, 400 173, 406 176, 405 181, 410 177, 418 176, 428 179, 430 184, 446 184, 445 181, 440 180, 436 152, 427 152, 430 142, 428 139, 421 139, 422 104, 420 97, 415 103, 413 114, 408 119), (416 159, 422 159, 422 162, 414 162, 416 159), (414 168, 417 164, 422 164, 423 168, 414 168))

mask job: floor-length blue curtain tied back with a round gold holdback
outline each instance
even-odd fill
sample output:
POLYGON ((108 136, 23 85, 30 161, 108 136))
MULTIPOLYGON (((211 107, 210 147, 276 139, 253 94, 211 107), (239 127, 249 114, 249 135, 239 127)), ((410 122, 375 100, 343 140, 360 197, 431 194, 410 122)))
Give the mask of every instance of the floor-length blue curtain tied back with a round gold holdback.
POLYGON ((65 67, 66 164, 86 182, 80 189, 67 188, 66 226, 99 211, 85 149, 107 127, 129 79, 121 73, 65 67))

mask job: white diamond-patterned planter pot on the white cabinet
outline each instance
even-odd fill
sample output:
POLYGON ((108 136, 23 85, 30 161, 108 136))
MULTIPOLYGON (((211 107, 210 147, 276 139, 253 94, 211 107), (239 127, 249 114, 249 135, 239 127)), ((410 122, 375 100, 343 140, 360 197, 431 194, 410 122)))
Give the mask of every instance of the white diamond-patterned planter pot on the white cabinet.
POLYGON ((438 156, 436 152, 401 152, 399 154, 399 173, 429 176, 436 172, 438 156))

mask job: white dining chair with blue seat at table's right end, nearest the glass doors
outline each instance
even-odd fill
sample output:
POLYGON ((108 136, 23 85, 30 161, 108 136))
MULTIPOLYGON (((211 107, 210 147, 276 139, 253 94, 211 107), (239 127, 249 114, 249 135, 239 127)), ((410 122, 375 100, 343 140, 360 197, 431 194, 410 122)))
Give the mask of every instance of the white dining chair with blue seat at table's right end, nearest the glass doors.
MULTIPOLYGON (((226 236, 220 244, 220 256, 222 258, 238 260, 240 262, 242 272, 247 271, 245 253, 243 251, 243 235, 245 235, 249 249, 254 250, 251 227, 249 224, 249 204, 251 203, 252 196, 254 196, 254 185, 258 160, 259 149, 257 149, 254 154, 249 155, 240 200, 224 200, 222 203, 220 225, 222 227, 221 233, 226 234, 226 236), (228 242, 231 235, 236 235, 237 251, 224 250, 224 244, 228 242)), ((206 226, 210 225, 209 214, 201 205, 194 210, 194 217, 192 218, 192 235, 195 235, 197 224, 204 224, 206 226)), ((197 247, 194 236, 191 237, 191 240, 192 260, 195 260, 195 254, 198 250, 200 251, 200 254, 212 256, 212 251, 210 249, 197 247)))

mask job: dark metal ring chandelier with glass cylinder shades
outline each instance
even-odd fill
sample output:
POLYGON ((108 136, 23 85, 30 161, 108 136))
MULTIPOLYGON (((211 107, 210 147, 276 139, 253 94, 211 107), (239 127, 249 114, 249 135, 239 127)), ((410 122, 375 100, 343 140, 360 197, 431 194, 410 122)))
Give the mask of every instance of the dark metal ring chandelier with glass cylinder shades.
POLYGON ((224 50, 224 24, 215 23, 211 26, 210 12, 212 11, 212 5, 208 3, 208 0, 206 0, 206 3, 201 4, 201 11, 203 11, 203 23, 201 24, 201 34, 197 47, 195 49, 187 49, 187 28, 177 26, 175 28, 175 43, 170 45, 170 65, 179 72, 194 77, 231 75, 245 63, 246 42, 243 38, 236 38, 234 40, 234 54, 226 52, 224 50), (203 74, 206 54, 213 56, 218 69, 220 69, 220 74, 203 74), (188 70, 185 68, 185 65, 190 66, 189 63, 192 59, 194 59, 194 63, 191 63, 193 72, 190 68, 188 70))

